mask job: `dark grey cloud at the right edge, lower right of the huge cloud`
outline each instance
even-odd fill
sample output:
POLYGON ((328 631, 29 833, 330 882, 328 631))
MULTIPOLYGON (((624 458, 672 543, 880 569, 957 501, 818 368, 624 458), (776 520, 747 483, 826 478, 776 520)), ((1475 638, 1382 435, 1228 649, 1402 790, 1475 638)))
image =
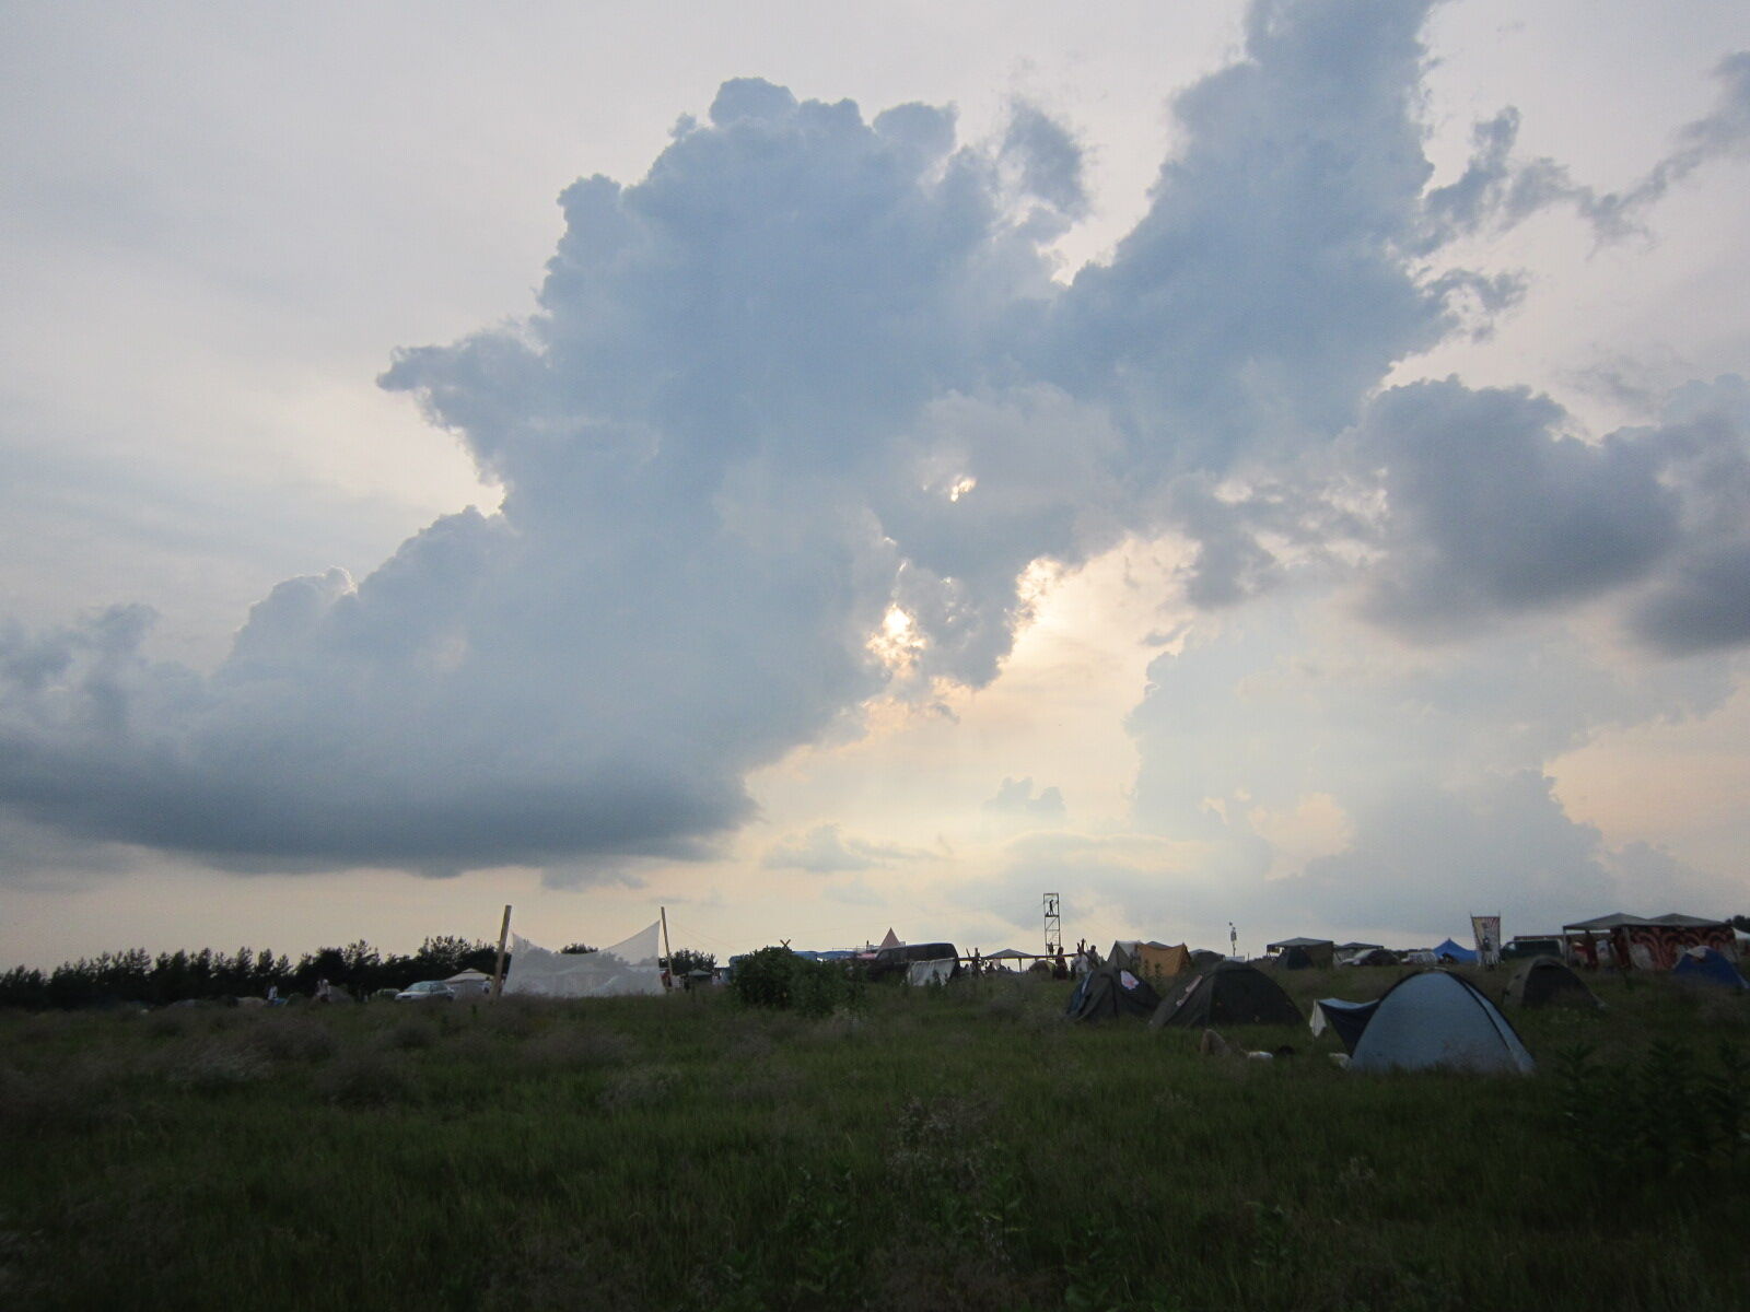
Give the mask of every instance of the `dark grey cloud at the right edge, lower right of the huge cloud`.
POLYGON ((1750 387, 1690 385, 1664 423, 1596 443, 1564 422, 1524 390, 1384 392, 1356 441, 1386 500, 1365 612, 1452 639, 1614 597, 1670 653, 1750 639, 1750 387))

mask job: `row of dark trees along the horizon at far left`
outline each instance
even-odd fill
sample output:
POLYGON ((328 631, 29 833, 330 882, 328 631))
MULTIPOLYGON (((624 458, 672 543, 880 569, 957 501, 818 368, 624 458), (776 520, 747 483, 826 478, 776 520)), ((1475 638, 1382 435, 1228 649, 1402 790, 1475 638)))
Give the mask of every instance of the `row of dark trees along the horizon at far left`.
POLYGON ((161 952, 144 948, 80 957, 52 971, 16 966, 0 974, 0 1006, 89 1008, 121 1002, 163 1006, 187 999, 262 997, 278 988, 282 997, 312 994, 318 980, 366 997, 378 988, 406 988, 420 980, 444 980, 458 971, 492 973, 497 948, 490 943, 443 934, 427 938, 418 952, 383 955, 364 939, 345 948, 290 957, 270 950, 238 948, 234 953, 161 952))

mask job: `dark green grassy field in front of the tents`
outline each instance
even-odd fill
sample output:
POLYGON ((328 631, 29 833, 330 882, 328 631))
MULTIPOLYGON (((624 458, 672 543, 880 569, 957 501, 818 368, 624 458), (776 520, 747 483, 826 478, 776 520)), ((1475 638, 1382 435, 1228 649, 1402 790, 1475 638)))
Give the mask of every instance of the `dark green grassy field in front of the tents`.
POLYGON ((0 1307, 1743 1309, 1750 1001, 1598 987, 1531 1079, 1050 981, 0 1016, 0 1307))

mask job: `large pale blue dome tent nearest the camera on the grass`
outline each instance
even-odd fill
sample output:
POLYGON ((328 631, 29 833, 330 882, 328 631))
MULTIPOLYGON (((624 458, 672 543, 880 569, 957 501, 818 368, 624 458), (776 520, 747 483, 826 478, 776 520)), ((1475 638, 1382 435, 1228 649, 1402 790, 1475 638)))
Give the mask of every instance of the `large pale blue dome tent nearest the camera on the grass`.
POLYGON ((1530 1074, 1535 1062, 1474 983, 1447 971, 1419 971, 1379 999, 1354 1041, 1349 1069, 1530 1074))

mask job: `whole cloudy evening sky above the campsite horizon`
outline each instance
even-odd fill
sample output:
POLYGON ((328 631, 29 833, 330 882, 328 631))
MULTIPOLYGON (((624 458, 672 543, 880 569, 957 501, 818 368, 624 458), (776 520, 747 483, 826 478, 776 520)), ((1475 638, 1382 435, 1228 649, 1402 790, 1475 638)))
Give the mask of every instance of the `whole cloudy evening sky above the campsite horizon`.
POLYGON ((0 966, 1750 911, 1750 14, 0 9, 0 966))

